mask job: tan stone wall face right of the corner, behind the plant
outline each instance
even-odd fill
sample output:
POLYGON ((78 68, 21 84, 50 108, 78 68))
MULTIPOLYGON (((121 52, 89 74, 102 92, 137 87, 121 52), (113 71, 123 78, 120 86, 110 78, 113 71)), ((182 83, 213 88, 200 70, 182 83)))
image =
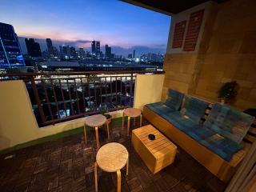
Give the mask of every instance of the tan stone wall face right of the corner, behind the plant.
POLYGON ((256 1, 230 0, 214 6, 198 50, 190 93, 216 101, 223 82, 240 86, 234 106, 256 108, 256 1))

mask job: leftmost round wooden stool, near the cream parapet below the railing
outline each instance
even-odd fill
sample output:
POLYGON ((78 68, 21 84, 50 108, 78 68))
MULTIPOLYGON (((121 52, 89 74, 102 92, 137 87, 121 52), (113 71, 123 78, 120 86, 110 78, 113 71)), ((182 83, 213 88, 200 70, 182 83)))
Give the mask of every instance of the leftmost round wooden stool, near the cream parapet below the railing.
POLYGON ((106 117, 104 115, 95 114, 95 115, 86 117, 86 121, 85 121, 85 125, 84 125, 84 134, 85 134, 86 143, 87 143, 86 126, 94 127, 97 149, 99 149, 100 143, 98 141, 98 127, 104 125, 105 123, 106 123, 106 128, 107 128, 107 137, 108 137, 108 139, 110 139, 109 123, 106 121, 106 117))

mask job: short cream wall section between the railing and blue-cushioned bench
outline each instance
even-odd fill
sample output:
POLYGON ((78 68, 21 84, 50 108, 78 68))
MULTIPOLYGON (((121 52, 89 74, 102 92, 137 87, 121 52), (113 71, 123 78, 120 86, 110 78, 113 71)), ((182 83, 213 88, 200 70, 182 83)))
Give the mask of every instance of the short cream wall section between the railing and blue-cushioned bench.
POLYGON ((135 82, 134 107, 143 109, 143 106, 160 102, 164 74, 138 74, 135 82))

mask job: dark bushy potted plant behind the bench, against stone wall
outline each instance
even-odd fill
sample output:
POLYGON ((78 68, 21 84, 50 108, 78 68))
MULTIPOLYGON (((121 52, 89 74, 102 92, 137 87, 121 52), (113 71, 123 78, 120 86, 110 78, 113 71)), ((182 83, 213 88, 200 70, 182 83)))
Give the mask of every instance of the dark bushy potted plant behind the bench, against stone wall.
POLYGON ((226 82, 218 90, 218 98, 222 104, 234 102, 238 95, 238 90, 239 86, 236 81, 226 82))

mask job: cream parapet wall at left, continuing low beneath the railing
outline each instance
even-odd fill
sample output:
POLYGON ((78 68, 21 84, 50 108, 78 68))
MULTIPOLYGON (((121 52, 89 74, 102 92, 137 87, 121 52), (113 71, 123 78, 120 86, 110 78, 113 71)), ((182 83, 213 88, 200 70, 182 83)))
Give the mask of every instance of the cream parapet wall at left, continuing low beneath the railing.
MULTIPOLYGON (((22 81, 0 82, 0 150, 83 126, 84 118, 38 128, 22 81)), ((121 111, 112 114, 122 116, 121 111)))

